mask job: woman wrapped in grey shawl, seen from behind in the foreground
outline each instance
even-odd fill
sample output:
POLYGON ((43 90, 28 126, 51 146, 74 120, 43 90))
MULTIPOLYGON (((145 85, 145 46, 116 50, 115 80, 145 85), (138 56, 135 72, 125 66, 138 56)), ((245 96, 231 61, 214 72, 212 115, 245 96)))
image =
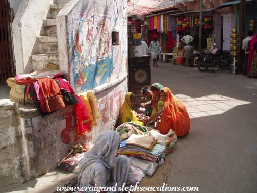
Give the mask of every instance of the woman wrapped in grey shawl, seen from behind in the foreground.
POLYGON ((135 178, 130 170, 130 159, 123 155, 116 157, 119 145, 120 135, 116 131, 106 131, 98 135, 94 146, 84 154, 80 162, 77 186, 111 187, 115 186, 115 183, 117 187, 123 183, 126 186, 134 185, 135 178))

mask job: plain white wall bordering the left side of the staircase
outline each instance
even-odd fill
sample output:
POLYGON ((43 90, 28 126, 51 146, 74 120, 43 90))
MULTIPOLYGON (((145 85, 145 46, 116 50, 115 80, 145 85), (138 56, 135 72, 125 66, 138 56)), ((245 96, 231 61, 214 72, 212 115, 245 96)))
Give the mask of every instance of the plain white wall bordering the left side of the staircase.
POLYGON ((12 23, 16 74, 32 70, 30 54, 36 37, 40 34, 50 3, 53 3, 53 0, 23 0, 19 5, 12 23))

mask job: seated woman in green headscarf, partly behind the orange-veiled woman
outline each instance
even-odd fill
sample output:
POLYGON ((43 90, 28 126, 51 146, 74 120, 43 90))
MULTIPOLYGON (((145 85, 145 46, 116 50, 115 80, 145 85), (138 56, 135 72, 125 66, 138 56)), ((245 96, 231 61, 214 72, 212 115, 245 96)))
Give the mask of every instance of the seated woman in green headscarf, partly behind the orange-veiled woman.
POLYGON ((151 85, 151 91, 153 93, 152 100, 152 115, 156 114, 163 107, 163 101, 160 99, 160 92, 163 86, 159 83, 151 85))

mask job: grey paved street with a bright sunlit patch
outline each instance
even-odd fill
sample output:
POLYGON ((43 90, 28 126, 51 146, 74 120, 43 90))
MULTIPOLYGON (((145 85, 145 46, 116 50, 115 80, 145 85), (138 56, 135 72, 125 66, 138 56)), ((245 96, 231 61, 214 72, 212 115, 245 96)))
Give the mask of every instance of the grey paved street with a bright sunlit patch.
POLYGON ((257 79, 158 64, 151 67, 152 83, 169 87, 191 117, 190 133, 172 153, 168 186, 257 192, 257 79))

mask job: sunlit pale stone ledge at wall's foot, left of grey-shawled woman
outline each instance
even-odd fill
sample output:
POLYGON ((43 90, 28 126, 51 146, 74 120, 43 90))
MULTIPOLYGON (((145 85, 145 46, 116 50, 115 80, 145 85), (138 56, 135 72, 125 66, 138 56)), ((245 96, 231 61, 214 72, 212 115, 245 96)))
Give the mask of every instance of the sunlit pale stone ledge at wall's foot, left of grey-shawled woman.
MULTIPOLYGON (((29 180, 23 184, 10 186, 6 192, 14 193, 54 193, 68 192, 57 191, 57 187, 71 187, 76 184, 77 175, 60 169, 48 172, 36 179, 29 180)), ((72 192, 72 191, 69 191, 72 192)))

